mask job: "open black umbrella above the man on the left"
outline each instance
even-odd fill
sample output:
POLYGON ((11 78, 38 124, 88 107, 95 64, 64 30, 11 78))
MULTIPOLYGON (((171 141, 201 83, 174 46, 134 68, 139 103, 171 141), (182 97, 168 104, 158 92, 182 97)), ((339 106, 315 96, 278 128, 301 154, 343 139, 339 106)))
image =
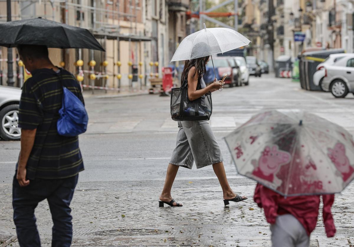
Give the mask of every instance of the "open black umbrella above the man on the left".
POLYGON ((5 47, 33 44, 105 51, 89 30, 42 18, 1 23, 0 34, 0 46, 5 47))

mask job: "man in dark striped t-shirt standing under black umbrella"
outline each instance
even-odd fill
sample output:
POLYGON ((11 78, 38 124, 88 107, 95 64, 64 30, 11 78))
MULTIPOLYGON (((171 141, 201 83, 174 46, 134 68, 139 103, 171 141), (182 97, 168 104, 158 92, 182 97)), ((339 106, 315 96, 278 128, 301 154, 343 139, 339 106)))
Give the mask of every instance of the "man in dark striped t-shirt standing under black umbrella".
POLYGON ((13 219, 20 245, 40 246, 34 210, 47 199, 53 219, 52 246, 67 247, 72 242, 70 202, 84 170, 78 137, 57 132, 63 86, 82 102, 75 77, 58 68, 48 58, 46 46, 21 45, 18 53, 32 73, 23 85, 19 105, 22 128, 21 151, 13 179, 13 219))

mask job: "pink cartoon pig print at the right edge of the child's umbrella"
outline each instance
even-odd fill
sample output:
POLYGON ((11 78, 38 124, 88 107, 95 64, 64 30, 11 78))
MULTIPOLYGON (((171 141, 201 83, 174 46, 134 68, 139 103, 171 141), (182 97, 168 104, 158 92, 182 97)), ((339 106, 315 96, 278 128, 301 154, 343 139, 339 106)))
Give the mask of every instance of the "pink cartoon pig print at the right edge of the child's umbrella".
POLYGON ((328 157, 342 174, 343 181, 346 182, 354 172, 354 168, 350 165, 349 159, 346 156, 346 147, 343 143, 338 142, 333 149, 329 148, 327 150, 328 157))

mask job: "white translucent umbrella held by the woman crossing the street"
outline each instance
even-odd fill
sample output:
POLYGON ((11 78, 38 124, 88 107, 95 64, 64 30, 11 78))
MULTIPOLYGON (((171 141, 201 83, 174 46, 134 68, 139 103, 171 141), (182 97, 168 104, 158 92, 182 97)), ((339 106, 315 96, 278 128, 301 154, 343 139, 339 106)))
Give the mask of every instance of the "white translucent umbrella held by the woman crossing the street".
MULTIPOLYGON (((228 52, 251 41, 229 28, 206 28, 185 37, 171 59, 173 61, 192 60, 228 52)), ((214 65, 213 65, 214 66, 214 65)), ((214 69, 215 73, 215 69, 214 69)), ((216 76, 215 76, 216 77, 216 76)))

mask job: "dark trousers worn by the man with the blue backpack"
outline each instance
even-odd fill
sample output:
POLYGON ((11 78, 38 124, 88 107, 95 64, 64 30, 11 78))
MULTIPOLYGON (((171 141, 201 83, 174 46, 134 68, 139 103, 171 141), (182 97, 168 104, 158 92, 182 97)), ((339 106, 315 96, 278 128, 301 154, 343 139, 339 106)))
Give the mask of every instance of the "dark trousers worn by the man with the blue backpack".
POLYGON ((73 238, 70 202, 79 175, 66 179, 35 179, 26 187, 19 186, 13 178, 13 221, 21 247, 40 247, 39 233, 34 210, 38 203, 47 199, 52 214, 52 247, 69 247, 73 238))

